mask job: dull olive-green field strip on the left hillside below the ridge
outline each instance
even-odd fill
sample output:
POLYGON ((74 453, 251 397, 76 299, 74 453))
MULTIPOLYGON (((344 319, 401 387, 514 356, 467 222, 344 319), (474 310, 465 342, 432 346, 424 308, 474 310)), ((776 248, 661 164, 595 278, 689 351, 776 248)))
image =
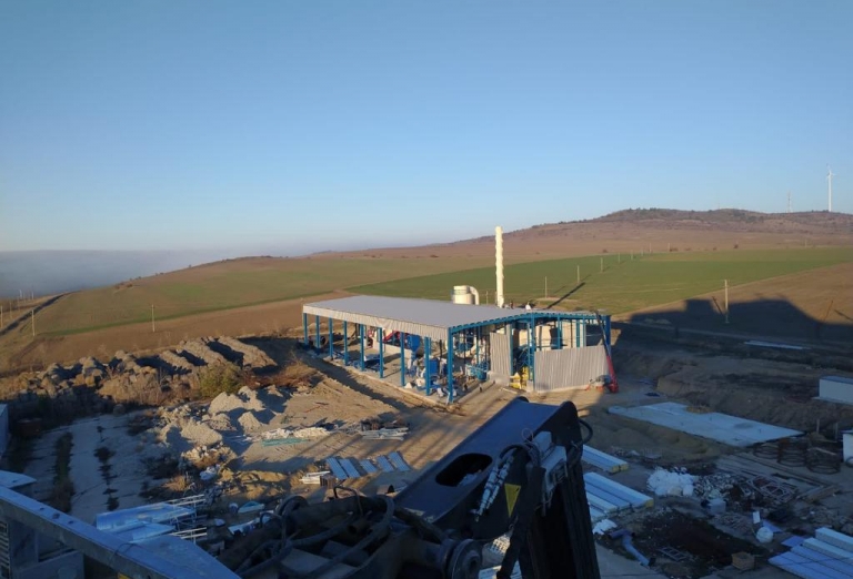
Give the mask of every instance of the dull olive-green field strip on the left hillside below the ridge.
MULTIPOLYGON (((151 319, 320 295, 352 284, 458 270, 459 258, 237 260, 69 294, 38 314, 40 334, 67 335, 151 319)), ((482 261, 480 262, 482 263, 482 261)))

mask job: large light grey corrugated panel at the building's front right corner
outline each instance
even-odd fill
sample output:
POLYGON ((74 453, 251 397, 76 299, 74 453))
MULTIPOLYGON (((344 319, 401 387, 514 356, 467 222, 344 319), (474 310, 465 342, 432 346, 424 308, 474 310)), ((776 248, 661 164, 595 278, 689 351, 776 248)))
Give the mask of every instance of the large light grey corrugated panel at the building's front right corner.
POLYGON ((604 346, 538 351, 533 364, 535 392, 585 388, 592 380, 610 374, 604 346))

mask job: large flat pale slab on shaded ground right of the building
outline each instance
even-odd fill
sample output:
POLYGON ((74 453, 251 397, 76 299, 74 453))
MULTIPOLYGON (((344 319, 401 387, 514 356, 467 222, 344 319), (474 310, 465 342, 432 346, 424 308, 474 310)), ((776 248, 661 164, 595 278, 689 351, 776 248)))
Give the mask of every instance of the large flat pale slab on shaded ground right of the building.
POLYGON ((779 438, 799 436, 803 433, 769 424, 739 418, 721 413, 691 413, 679 403, 660 403, 625 408, 613 406, 612 414, 635 420, 665 426, 673 430, 709 438, 730 446, 746 447, 779 438))

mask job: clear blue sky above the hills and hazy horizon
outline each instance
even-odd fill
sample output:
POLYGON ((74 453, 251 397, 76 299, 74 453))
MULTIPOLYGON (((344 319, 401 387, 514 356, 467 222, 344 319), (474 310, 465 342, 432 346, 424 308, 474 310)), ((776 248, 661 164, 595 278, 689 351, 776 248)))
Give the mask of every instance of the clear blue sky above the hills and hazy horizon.
POLYGON ((0 0, 0 250, 853 212, 853 2, 0 0))

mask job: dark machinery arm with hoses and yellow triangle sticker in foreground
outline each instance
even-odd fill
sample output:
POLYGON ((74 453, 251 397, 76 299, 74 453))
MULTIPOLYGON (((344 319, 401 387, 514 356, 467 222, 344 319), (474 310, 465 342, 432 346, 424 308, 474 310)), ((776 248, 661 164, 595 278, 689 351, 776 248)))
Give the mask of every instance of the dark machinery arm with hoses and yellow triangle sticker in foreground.
POLYGON ((288 499, 220 560, 241 577, 471 579, 511 534, 499 577, 598 578, 571 403, 519 398, 394 499, 288 499), (281 573, 281 575, 279 575, 281 573))

